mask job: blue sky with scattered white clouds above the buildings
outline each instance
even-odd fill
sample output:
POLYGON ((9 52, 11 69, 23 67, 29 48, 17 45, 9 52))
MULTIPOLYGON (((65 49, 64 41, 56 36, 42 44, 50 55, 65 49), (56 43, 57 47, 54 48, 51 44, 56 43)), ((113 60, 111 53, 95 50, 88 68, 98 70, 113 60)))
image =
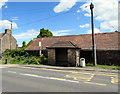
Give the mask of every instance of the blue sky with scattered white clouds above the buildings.
MULTIPOLYGON (((41 28, 54 36, 91 33, 90 3, 87 0, 58 0, 58 2, 0 1, 0 33, 11 28, 19 46, 36 38, 41 28)), ((92 0, 95 33, 118 30, 118 1, 92 0), (109 6, 108 6, 109 5, 109 6)))

